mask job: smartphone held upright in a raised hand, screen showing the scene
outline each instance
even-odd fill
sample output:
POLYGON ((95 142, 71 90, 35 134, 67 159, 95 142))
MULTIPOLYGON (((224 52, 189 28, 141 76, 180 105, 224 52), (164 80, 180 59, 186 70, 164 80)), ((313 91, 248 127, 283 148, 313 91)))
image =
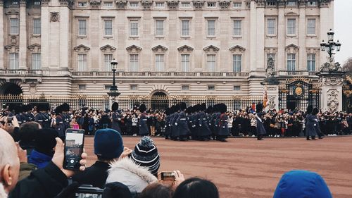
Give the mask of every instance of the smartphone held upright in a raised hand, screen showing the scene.
POLYGON ((68 128, 65 134, 65 157, 63 168, 79 170, 84 145, 84 130, 68 128))

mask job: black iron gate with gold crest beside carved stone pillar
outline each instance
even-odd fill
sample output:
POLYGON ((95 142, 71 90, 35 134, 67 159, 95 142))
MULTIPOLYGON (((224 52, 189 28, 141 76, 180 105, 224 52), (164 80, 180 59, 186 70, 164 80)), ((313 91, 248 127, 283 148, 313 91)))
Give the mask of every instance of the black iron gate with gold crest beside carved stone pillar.
POLYGON ((308 80, 291 80, 279 88, 279 109, 306 111, 308 105, 319 108, 319 97, 319 89, 308 80))

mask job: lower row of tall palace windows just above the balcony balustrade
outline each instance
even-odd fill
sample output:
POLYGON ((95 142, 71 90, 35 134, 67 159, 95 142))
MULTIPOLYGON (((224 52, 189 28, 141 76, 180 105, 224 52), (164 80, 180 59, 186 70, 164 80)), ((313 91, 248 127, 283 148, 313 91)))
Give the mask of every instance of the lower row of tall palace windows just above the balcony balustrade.
MULTIPOLYGON (((273 58, 275 60, 276 54, 268 54, 268 58, 273 58)), ((307 54, 307 70, 315 71, 315 54, 307 54)), ((296 54, 287 54, 287 70, 296 70, 296 54)), ((113 60, 113 54, 104 54, 103 66, 104 70, 111 70, 111 60, 113 60)), ((182 72, 190 71, 190 55, 181 54, 181 70, 182 72)), ((206 66, 208 72, 215 72, 216 66, 216 55, 208 54, 206 56, 206 66)), ((9 54, 9 69, 18 69, 19 60, 18 53, 9 54)), ((40 53, 32 53, 32 69, 39 70, 41 69, 41 56, 40 53)), ((242 68, 242 55, 233 54, 232 55, 232 68, 233 72, 241 72, 242 68)), ((165 56, 164 54, 155 55, 155 69, 158 72, 165 70, 165 56)), ((77 54, 77 71, 86 71, 87 70, 87 54, 77 54)), ((139 71, 139 54, 130 54, 130 71, 139 71)))

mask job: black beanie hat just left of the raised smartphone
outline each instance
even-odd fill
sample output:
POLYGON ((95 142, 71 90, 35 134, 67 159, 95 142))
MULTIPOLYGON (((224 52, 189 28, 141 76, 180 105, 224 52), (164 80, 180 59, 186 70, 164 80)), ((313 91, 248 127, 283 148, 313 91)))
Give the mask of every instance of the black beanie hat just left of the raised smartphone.
POLYGON ((51 128, 43 128, 37 130, 34 140, 35 150, 49 156, 54 155, 54 147, 56 146, 55 138, 58 137, 58 132, 51 128))

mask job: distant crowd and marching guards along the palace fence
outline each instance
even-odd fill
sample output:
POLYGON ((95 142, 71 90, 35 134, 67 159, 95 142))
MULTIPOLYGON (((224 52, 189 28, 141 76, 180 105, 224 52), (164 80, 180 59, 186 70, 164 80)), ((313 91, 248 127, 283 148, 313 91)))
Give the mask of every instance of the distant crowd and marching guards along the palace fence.
MULTIPOLYGON (((113 128, 121 135, 163 136, 171 140, 225 141, 227 137, 257 137, 260 112, 263 118, 260 122, 265 130, 263 136, 306 136, 308 111, 274 109, 263 113, 258 111, 257 107, 258 104, 253 104, 245 110, 227 110, 225 104, 197 104, 187 107, 186 104, 180 103, 165 110, 147 110, 144 104, 123 110, 114 103, 111 111, 103 111, 90 108, 73 110, 68 104, 54 108, 49 104, 27 104, 8 106, 2 109, 1 117, 4 119, 15 116, 20 125, 37 121, 44 128, 58 130, 60 137, 63 137, 67 128, 84 129, 86 135, 94 135, 96 130, 102 128, 113 128)), ((321 131, 320 137, 350 135, 352 132, 352 113, 318 111, 316 116, 321 131)))

